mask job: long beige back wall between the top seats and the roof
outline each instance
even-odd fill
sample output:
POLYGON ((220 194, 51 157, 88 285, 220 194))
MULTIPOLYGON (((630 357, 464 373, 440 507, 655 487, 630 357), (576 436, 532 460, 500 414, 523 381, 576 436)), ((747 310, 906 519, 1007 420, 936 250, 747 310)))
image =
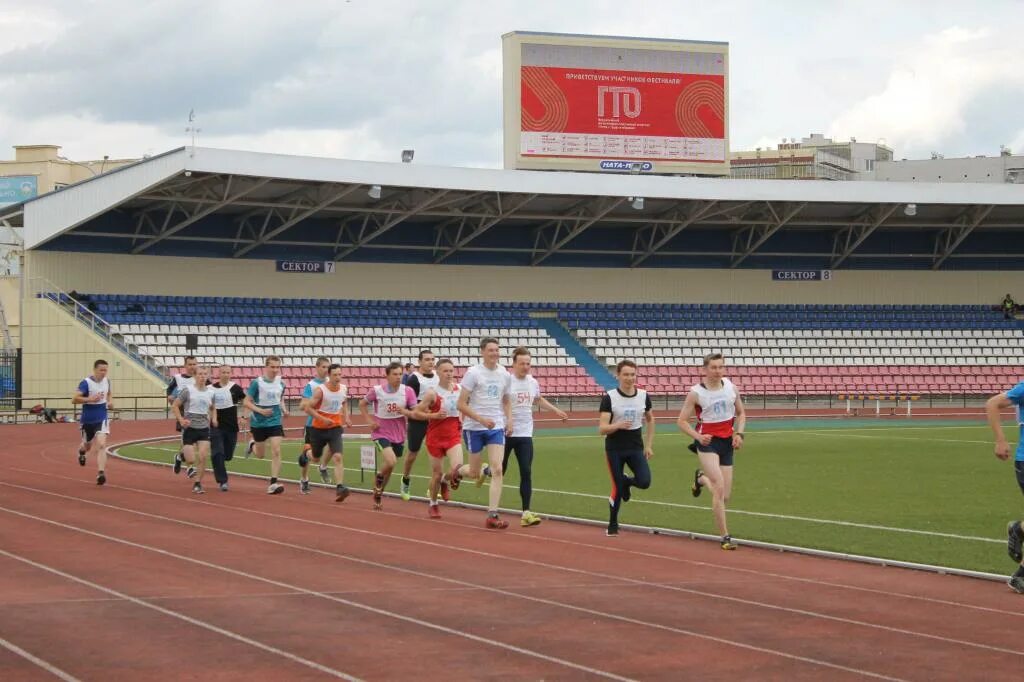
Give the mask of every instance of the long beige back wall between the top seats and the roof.
MULTIPOLYGON (((284 254, 283 254, 284 255, 284 254)), ((89 293, 261 298, 646 303, 997 304, 1024 298, 1019 272, 837 270, 828 282, 772 282, 770 270, 338 263, 331 274, 276 272, 270 260, 30 251, 26 273, 89 293)), ((30 289, 30 288, 27 288, 30 289)))

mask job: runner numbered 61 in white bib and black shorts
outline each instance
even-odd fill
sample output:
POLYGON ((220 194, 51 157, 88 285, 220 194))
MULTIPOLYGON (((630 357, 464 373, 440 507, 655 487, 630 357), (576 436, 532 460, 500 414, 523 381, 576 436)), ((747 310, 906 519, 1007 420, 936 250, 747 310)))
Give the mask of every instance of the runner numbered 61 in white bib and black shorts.
POLYGON ((677 424, 693 438, 689 447, 700 462, 700 468, 693 472, 690 491, 696 498, 705 487, 711 488, 712 511, 722 536, 722 549, 734 550, 736 545, 725 521, 725 505, 732 494, 733 452, 743 445, 746 413, 736 387, 725 378, 722 353, 705 355, 703 367, 705 380, 690 388, 677 424), (694 416, 695 428, 690 425, 694 416))

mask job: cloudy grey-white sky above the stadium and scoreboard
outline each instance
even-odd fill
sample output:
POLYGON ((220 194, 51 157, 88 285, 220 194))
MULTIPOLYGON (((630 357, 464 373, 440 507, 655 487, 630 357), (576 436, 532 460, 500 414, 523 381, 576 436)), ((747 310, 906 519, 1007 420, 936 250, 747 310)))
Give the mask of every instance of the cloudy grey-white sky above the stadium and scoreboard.
POLYGON ((501 36, 727 41, 733 148, 822 132, 897 158, 1024 152, 1018 1, 0 0, 0 158, 185 143, 501 165, 501 36))

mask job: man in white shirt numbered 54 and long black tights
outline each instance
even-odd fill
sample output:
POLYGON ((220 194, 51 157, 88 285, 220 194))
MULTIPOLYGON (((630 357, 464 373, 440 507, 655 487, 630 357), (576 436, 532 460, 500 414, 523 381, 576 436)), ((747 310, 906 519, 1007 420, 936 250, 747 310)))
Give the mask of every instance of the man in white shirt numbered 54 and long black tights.
POLYGON ((519 346, 512 351, 512 379, 509 394, 512 399, 512 429, 505 439, 505 457, 502 471, 508 471, 509 456, 515 454, 519 463, 519 498, 522 501, 520 525, 530 526, 541 522, 541 517, 529 510, 534 495, 534 404, 555 413, 563 422, 568 415, 548 402, 541 395, 541 384, 530 375, 532 359, 529 349, 519 346))

